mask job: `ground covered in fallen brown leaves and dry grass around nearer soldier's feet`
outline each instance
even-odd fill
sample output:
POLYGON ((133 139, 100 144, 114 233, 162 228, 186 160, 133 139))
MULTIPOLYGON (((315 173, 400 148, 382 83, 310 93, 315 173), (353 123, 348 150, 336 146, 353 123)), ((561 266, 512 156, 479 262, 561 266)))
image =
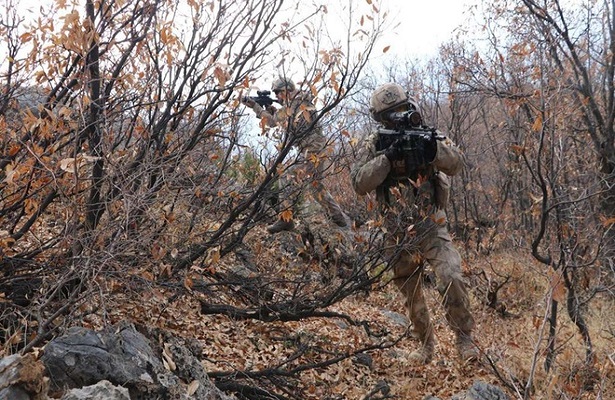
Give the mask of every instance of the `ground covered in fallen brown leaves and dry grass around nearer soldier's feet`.
MULTIPOLYGON (((216 268, 237 271, 246 282, 257 281, 259 273, 274 270, 286 277, 309 272, 318 280, 326 275, 322 260, 315 264, 299 254, 300 236, 300 232, 291 232, 270 237, 258 228, 249 235, 241 253, 220 260, 216 268), (263 238, 268 243, 263 243, 263 238), (246 269, 246 259, 251 269, 246 269)), ((213 378, 245 374, 255 386, 284 380, 286 385, 282 386, 294 387, 295 394, 302 393, 306 398, 422 399, 432 395, 449 399, 475 381, 492 383, 511 398, 522 398, 533 356, 538 353, 531 398, 615 399, 615 394, 607 391, 615 387, 612 299, 599 299, 589 310, 595 347, 595 362, 589 367, 582 362, 580 336, 560 311, 556 367, 546 373, 542 367, 547 336, 545 304, 552 291, 544 267, 519 253, 472 260, 466 257, 463 267, 471 286, 476 340, 484 356, 481 362, 468 365, 457 359, 439 294, 429 280, 425 283, 426 296, 437 345, 433 362, 426 366, 408 363, 417 342, 407 333, 402 299, 394 285, 386 284, 386 276, 380 280, 383 285, 372 285, 370 291, 357 292, 320 310, 329 315, 283 322, 233 318, 228 312, 204 315, 203 304, 212 301, 211 293, 203 289, 207 285, 201 285, 211 272, 205 268, 195 267, 183 282, 176 282, 183 285, 179 296, 170 279, 144 272, 139 279, 151 281, 146 290, 141 287, 130 292, 121 289, 123 285, 105 282, 110 290, 108 298, 112 299, 106 304, 107 322, 128 318, 197 338, 204 349, 203 364, 213 378), (485 277, 498 276, 510 276, 509 282, 498 291, 497 307, 487 307, 485 277), (114 292, 114 287, 118 291, 114 292), (297 373, 287 375, 288 371, 297 373)), ((102 321, 100 315, 92 314, 83 323, 97 328, 102 321)))

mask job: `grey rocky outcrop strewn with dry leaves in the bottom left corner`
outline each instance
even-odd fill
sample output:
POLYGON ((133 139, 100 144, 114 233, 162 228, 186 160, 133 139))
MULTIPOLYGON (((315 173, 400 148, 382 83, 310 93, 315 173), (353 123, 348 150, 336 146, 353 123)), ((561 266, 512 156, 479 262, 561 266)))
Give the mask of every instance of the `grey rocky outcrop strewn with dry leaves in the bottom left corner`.
POLYGON ((0 361, 0 400, 234 400, 209 380, 198 345, 163 331, 120 323, 71 328, 43 355, 0 361))

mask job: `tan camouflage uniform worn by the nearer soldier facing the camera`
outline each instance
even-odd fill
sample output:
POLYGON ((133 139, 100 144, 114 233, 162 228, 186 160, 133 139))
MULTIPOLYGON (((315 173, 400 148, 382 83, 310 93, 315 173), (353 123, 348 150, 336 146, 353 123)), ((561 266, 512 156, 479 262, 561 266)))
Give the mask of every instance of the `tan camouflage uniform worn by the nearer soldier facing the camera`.
POLYGON ((451 241, 445 213, 448 176, 461 170, 463 155, 451 140, 438 140, 435 159, 429 165, 408 178, 391 179, 391 162, 377 151, 378 140, 377 132, 368 136, 351 177, 359 195, 376 191, 386 228, 385 253, 392 260, 394 283, 405 297, 413 334, 421 341, 421 348, 410 357, 417 363, 428 363, 433 357, 433 327, 421 287, 423 262, 428 261, 437 277, 446 318, 457 335, 460 356, 475 359, 474 319, 461 275, 461 257, 451 241))

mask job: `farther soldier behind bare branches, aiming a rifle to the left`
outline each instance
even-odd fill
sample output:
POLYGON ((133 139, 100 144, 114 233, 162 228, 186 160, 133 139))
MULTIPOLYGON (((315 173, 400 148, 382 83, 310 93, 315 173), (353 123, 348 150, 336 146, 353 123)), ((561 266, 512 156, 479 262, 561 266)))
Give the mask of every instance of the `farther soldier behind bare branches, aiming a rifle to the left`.
MULTIPOLYGON (((323 173, 327 167, 325 162, 327 140, 321 127, 313 120, 317 114, 311 96, 298 91, 295 84, 285 77, 273 82, 272 91, 281 104, 279 109, 273 106, 263 109, 249 97, 244 98, 243 103, 252 108, 256 116, 263 119, 266 125, 285 129, 301 155, 300 162, 305 165, 308 174, 314 179, 309 185, 314 198, 335 225, 341 228, 347 227, 350 223, 348 217, 322 183, 323 173)), ((286 184, 290 182, 287 180, 286 184)), ((285 220, 280 217, 275 224, 268 226, 267 230, 269 233, 278 233, 293 228, 292 219, 285 220)))

